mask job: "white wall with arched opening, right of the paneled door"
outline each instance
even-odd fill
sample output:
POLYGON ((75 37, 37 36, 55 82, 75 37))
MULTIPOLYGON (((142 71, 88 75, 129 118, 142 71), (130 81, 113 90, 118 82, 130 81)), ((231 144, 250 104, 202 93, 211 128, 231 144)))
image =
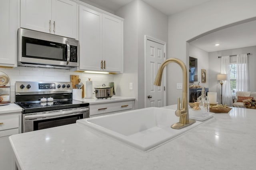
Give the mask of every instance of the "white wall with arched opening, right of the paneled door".
MULTIPOLYGON (((188 66, 189 51, 186 41, 203 33, 238 21, 256 17, 255 0, 212 0, 189 10, 169 16, 168 58, 181 59, 188 66), (241 11, 242 12, 238 12, 241 11)), ((177 64, 176 64, 177 65, 177 64)), ((176 90, 176 83, 182 81, 178 66, 167 70, 167 104, 175 104, 181 92, 176 90)))

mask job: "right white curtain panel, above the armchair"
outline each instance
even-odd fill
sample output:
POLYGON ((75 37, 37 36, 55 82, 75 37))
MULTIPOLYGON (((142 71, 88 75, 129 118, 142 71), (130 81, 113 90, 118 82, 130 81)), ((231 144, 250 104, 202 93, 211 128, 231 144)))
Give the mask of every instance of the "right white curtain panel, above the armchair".
POLYGON ((248 92, 248 61, 247 54, 236 56, 236 91, 248 92))

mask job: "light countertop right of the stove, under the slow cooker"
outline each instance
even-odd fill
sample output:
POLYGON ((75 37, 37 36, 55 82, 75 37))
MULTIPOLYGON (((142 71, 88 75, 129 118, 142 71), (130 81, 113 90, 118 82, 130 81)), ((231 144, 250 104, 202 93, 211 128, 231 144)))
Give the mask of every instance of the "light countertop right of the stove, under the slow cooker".
POLYGON ((107 98, 107 99, 97 99, 97 98, 92 98, 92 99, 74 99, 82 102, 88 102, 90 105, 93 104, 102 104, 102 103, 109 103, 109 102, 123 102, 123 101, 128 101, 128 100, 135 100, 135 98, 131 97, 121 97, 121 96, 113 96, 112 98, 107 98))

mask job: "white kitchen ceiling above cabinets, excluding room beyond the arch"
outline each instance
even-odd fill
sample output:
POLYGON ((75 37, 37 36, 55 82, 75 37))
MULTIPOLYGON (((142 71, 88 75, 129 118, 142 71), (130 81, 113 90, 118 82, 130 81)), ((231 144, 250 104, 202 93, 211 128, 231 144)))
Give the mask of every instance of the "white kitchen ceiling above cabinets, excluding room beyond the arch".
MULTIPOLYGON (((86 2, 87 0, 81 0, 86 2)), ((120 7, 132 2, 133 0, 89 0, 92 3, 108 8, 112 11, 118 10, 120 7)), ((197 6, 209 0, 143 0, 150 6, 158 9, 167 16, 187 10, 193 6, 197 6)))

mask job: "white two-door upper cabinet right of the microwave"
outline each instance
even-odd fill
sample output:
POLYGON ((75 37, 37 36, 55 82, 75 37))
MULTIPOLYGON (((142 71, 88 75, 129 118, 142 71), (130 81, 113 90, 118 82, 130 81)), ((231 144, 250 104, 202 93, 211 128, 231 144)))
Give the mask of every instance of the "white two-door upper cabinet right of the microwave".
POLYGON ((80 70, 123 72, 123 20, 79 8, 80 70))

